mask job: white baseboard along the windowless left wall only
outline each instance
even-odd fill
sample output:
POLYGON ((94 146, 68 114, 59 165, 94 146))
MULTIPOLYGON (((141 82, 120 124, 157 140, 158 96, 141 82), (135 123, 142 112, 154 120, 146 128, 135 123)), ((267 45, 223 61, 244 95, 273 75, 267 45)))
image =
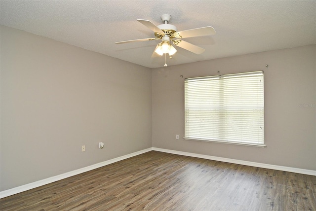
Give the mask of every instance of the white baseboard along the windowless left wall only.
POLYGON ((106 166, 106 165, 109 165, 109 164, 112 164, 112 163, 115 163, 115 162, 118 162, 118 161, 130 158, 130 157, 134 157, 136 155, 140 155, 140 154, 143 154, 145 152, 152 151, 152 150, 153 149, 151 147, 151 148, 148 148, 148 149, 144 149, 144 150, 140 150, 140 151, 137 151, 137 152, 130 153, 128 155, 123 155, 123 156, 120 156, 118 158, 113 158, 111 160, 107 160, 107 161, 104 161, 104 162, 101 162, 101 163, 93 164, 91 166, 83 167, 81 169, 77 169, 77 170, 74 170, 74 171, 71 171, 71 172, 67 172, 67 173, 64 173, 64 174, 61 174, 61 175, 52 176, 52 177, 49 177, 49 178, 46 178, 46 179, 41 179, 39 181, 35 181, 35 182, 32 182, 32 183, 21 185, 21 186, 15 187, 15 188, 11 188, 11 189, 8 189, 8 190, 0 191, 0 199, 4 198, 4 197, 7 197, 7 196, 11 196, 11 195, 17 194, 17 193, 21 193, 21 192, 26 191, 26 190, 30 190, 30 189, 33 189, 33 188, 36 188, 36 187, 40 187, 42 185, 49 184, 49 183, 52 183, 52 182, 55 182, 55 181, 58 181, 58 180, 61 180, 61 179, 64 179, 64 178, 67 178, 67 177, 70 177, 70 176, 79 175, 81 173, 88 172, 88 171, 91 171, 93 169, 97 169, 97 168, 100 168, 100 167, 103 167, 103 166, 106 166))

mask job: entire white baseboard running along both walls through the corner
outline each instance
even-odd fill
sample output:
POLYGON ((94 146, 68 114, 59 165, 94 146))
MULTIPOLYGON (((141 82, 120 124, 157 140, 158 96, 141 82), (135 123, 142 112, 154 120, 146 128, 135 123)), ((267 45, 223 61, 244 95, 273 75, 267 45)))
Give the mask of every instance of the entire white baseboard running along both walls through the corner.
POLYGON ((222 158, 222 157, 215 157, 215 156, 210 156, 210 155, 202 155, 202 154, 196 154, 196 153, 191 153, 191 152, 182 152, 182 151, 176 151, 176 150, 170 150, 170 149, 162 149, 162 148, 157 148, 157 147, 151 147, 148 149, 140 150, 137 152, 130 153, 128 155, 123 155, 118 158, 113 158, 111 160, 107 160, 101 163, 97 163, 91 166, 87 166, 78 170, 74 170, 71 172, 67 172, 65 174, 57 175, 57 176, 52 176, 46 179, 42 179, 39 181, 35 181, 29 184, 21 185, 15 188, 11 188, 8 190, 0 191, 0 199, 11 196, 17 193, 21 193, 23 191, 27 191, 36 187, 40 187, 45 184, 49 184, 70 176, 75 176, 79 175, 84 172, 91 171, 93 169, 97 169, 127 158, 134 157, 136 155, 143 154, 145 152, 149 151, 159 151, 159 152, 166 152, 166 153, 171 153, 171 154, 176 154, 176 155, 185 155, 185 156, 190 156, 190 157, 197 157, 197 158, 204 158, 208 160, 216 160, 216 161, 222 161, 222 162, 227 162, 227 163, 235 163, 235 164, 240 164, 240 165, 245 165, 245 166, 253 166, 253 167, 260 167, 260 168, 265 168, 265 169, 274 169, 274 170, 280 170, 280 171, 286 171, 286 172, 293 172, 293 173, 299 173, 299 174, 304 174, 304 175, 313 175, 316 176, 316 171, 314 170, 307 170, 307 169, 298 169, 298 168, 292 168, 292 167, 285 167, 285 166, 276 166, 276 165, 270 165, 270 164, 263 164, 263 163, 255 163, 255 162, 250 162, 250 161, 243 161, 243 160, 235 160, 231 158, 222 158))

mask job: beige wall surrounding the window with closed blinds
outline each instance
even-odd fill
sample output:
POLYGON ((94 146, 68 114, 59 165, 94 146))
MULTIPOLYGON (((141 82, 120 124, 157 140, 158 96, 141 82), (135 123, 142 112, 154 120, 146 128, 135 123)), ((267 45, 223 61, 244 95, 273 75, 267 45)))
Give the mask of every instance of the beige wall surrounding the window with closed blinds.
POLYGON ((315 58, 311 45, 154 69, 153 146, 316 170, 315 58), (264 70, 266 148, 176 140, 184 137, 185 78, 255 70, 264 70))

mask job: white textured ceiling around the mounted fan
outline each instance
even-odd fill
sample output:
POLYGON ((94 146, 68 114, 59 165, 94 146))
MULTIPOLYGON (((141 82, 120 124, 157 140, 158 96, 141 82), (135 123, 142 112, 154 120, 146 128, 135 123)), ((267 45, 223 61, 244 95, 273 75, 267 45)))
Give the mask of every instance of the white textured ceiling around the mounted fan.
POLYGON ((0 0, 0 24, 99 52, 149 68, 158 40, 136 21, 162 24, 170 14, 178 31, 212 26, 216 35, 184 39, 205 48, 196 55, 177 47, 167 64, 177 65, 316 44, 316 0, 0 0))

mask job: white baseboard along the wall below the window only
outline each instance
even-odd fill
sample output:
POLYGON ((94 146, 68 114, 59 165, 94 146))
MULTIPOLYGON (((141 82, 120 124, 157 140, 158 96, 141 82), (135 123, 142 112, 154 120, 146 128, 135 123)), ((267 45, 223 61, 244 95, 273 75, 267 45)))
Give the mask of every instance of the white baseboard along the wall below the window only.
POLYGON ((304 175, 316 176, 315 170, 298 169, 298 168, 292 168, 292 167, 286 167, 286 166, 276 166, 276 165, 271 165, 271 164, 235 160, 231 158, 215 157, 215 156, 210 156, 210 155, 202 155, 202 154, 196 154, 196 153, 191 153, 191 152, 182 152, 182 151, 162 149, 162 148, 156 148, 156 147, 152 147, 152 149, 155 151, 166 152, 166 153, 171 153, 171 154, 176 154, 176 155, 185 155, 185 156, 190 156, 190 157, 204 158, 208 160, 235 163, 235 164, 240 164, 240 165, 245 165, 245 166, 253 166, 253 167, 260 167, 260 168, 265 168, 265 169, 273 169, 273 170, 280 170, 280 171, 285 171, 285 172, 293 172, 293 173, 299 173, 299 174, 304 174, 304 175))

